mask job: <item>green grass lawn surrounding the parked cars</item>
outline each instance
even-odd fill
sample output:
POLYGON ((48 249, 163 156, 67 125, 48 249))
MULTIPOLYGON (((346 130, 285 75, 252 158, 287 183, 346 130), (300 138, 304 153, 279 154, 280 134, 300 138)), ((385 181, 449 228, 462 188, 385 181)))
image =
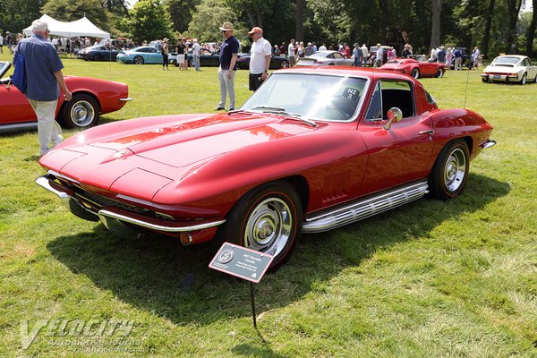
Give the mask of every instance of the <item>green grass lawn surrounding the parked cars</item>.
MULTIPOLYGON (((101 123, 213 112, 219 99, 215 68, 64 65, 129 84, 134 101, 101 123)), ((0 357, 537 357, 537 84, 479 74, 422 80, 440 107, 495 127, 465 192, 303 235, 256 286, 258 331, 249 286, 210 270, 207 247, 124 240, 72 216, 34 183, 37 132, 0 135, 0 357), (132 323, 128 336, 96 333, 114 321, 132 323)), ((246 71, 235 86, 240 106, 246 71)))

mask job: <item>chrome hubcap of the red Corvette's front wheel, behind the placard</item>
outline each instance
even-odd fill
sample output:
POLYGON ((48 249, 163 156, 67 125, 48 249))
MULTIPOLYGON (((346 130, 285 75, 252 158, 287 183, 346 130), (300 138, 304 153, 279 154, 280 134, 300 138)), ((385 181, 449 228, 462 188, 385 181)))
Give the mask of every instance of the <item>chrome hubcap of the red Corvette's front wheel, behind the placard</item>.
POLYGON ((286 246, 292 225, 291 210, 284 200, 263 200, 251 211, 246 222, 245 246, 276 256, 286 246))

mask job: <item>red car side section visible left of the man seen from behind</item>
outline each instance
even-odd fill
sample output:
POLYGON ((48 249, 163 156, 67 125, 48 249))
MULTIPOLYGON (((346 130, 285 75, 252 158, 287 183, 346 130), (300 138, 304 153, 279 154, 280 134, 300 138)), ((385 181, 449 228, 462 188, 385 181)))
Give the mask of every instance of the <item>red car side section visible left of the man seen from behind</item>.
POLYGON ((0 125, 36 121, 28 99, 15 86, 0 85, 0 125))

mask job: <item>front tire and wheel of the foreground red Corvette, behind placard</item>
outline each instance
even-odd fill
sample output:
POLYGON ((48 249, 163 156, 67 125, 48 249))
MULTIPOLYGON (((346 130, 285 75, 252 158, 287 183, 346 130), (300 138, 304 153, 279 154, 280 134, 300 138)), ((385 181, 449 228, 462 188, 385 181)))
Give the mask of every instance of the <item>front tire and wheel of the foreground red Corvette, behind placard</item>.
POLYGON ((289 259, 298 242, 302 216, 301 200, 291 185, 267 183, 235 204, 218 236, 222 242, 274 256, 270 269, 275 270, 289 259))

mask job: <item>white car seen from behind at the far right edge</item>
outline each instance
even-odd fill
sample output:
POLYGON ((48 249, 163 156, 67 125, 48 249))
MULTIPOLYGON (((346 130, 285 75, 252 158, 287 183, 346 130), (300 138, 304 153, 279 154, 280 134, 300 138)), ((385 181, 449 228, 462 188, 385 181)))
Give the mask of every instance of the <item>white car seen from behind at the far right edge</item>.
POLYGON ((537 66, 525 55, 499 55, 483 70, 482 81, 537 82, 537 66))

